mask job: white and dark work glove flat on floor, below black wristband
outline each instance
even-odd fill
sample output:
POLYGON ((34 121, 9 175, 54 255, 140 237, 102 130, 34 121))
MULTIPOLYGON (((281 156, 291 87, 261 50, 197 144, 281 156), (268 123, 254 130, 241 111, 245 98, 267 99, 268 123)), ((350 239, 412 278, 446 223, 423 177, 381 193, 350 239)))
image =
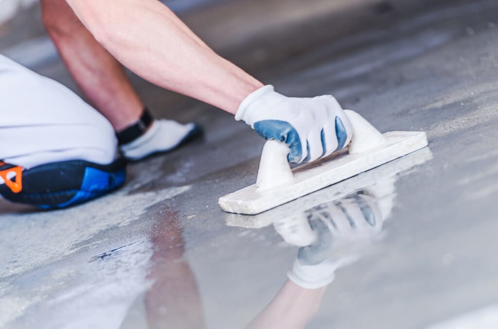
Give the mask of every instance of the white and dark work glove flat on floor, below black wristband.
POLYGON ((173 120, 154 120, 143 135, 120 149, 126 159, 140 160, 154 153, 171 151, 201 134, 201 126, 193 122, 181 124, 173 120))

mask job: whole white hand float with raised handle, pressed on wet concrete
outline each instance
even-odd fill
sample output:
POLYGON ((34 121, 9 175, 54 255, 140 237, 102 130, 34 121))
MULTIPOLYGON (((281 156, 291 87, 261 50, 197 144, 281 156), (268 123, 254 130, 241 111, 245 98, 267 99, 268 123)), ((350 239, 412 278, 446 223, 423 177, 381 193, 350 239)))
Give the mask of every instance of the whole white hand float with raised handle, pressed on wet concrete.
POLYGON ((381 134, 358 113, 351 110, 346 113, 353 125, 348 151, 291 171, 287 162, 288 147, 269 140, 261 154, 256 184, 221 197, 218 203, 223 210, 259 214, 427 146, 424 132, 381 134))

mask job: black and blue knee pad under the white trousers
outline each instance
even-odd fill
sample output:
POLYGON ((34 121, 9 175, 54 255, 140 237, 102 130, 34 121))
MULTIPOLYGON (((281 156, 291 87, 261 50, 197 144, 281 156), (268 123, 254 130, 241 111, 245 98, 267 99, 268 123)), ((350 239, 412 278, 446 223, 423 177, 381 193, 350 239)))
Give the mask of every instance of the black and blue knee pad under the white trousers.
MULTIPOLYGON (((0 170, 8 169, 8 164, 0 170)), ((14 193, 6 184, 0 194, 7 200, 42 209, 59 209, 95 199, 123 185, 126 161, 109 165, 71 160, 47 163, 22 171, 22 189, 14 193)), ((12 179, 14 182, 16 177, 12 179)))

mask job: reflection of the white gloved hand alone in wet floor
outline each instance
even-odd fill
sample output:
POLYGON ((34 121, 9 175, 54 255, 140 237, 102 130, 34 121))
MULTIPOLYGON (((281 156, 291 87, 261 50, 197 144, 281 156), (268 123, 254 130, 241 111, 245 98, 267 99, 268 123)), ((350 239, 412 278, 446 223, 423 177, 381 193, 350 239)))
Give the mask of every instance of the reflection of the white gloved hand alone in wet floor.
POLYGON ((374 199, 362 194, 314 207, 306 216, 318 238, 299 248, 288 277, 307 289, 332 282, 335 270, 354 262, 382 228, 374 199))

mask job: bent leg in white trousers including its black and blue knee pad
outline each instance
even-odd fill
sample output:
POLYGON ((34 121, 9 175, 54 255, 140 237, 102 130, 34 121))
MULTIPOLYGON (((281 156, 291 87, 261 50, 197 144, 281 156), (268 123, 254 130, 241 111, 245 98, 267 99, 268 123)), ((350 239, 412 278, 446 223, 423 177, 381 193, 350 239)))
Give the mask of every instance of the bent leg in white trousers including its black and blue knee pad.
POLYGON ((69 89, 0 55, 0 99, 6 199, 63 208, 123 184, 111 124, 69 89))

